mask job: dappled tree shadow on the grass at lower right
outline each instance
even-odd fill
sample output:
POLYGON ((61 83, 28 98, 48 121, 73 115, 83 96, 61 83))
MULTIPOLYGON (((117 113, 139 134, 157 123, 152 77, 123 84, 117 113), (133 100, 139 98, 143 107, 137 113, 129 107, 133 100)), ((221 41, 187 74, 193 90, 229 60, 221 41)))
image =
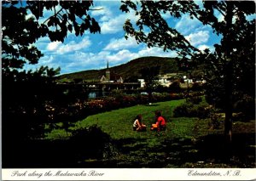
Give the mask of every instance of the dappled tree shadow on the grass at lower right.
MULTIPOLYGON (((122 147, 123 153, 130 156, 127 156, 128 161, 122 161, 119 167, 255 167, 254 133, 234 134, 230 145, 226 144, 224 136, 219 134, 198 140, 164 140, 153 148, 145 145, 144 140, 137 141, 142 144, 122 147), (138 160, 141 161, 139 166, 138 160)), ((135 140, 132 140, 131 144, 133 142, 135 140)))

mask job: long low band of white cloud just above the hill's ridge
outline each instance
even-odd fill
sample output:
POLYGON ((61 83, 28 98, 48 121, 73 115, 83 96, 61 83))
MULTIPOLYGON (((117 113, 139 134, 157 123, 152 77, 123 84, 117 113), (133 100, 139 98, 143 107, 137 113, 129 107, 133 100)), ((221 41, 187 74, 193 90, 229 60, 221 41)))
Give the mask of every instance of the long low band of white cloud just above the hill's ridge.
MULTIPOLYGON (((60 46, 61 47, 61 46, 60 46)), ((59 48, 60 48, 59 47, 59 48)), ((55 50, 56 51, 56 50, 55 50)), ((125 64, 131 59, 143 56, 175 57, 175 52, 163 52, 162 48, 148 48, 144 46, 132 52, 130 49, 121 49, 116 53, 102 50, 98 53, 74 51, 71 54, 50 54, 45 55, 38 62, 38 65, 26 66, 27 69, 35 69, 41 65, 49 67, 61 67, 61 74, 75 71, 106 68, 107 61, 110 66, 125 64)))

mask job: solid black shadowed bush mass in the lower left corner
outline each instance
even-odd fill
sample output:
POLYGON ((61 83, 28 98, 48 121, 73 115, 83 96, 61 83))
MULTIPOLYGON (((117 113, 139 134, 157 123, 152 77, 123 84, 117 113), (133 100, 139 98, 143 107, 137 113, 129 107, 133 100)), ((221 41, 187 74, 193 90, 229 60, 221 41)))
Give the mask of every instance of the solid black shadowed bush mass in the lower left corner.
POLYGON ((3 137, 3 168, 91 167, 84 160, 102 160, 114 154, 107 133, 95 126, 73 131, 70 139, 20 139, 3 137))

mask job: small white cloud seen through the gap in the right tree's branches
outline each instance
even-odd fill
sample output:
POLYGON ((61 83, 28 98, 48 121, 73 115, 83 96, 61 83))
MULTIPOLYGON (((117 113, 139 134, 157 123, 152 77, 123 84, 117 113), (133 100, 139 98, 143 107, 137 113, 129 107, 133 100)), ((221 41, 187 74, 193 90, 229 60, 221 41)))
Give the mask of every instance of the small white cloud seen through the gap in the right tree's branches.
POLYGON ((185 38, 193 45, 199 45, 201 43, 205 43, 209 39, 209 31, 198 31, 195 33, 189 34, 189 36, 186 36, 185 38))

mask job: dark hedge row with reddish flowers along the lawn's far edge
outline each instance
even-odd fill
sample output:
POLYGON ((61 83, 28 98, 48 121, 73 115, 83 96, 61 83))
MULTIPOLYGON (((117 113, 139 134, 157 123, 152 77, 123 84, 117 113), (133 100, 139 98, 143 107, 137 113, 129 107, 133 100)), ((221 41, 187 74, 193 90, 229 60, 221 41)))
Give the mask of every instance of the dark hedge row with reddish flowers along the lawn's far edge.
MULTIPOLYGON (((183 93, 154 93, 151 102, 160 102, 174 99, 183 99, 183 93)), ((48 105, 49 123, 77 122, 86 116, 98 114, 104 111, 117 110, 133 105, 148 104, 148 95, 118 95, 90 101, 76 102, 67 107, 53 107, 48 105)))

